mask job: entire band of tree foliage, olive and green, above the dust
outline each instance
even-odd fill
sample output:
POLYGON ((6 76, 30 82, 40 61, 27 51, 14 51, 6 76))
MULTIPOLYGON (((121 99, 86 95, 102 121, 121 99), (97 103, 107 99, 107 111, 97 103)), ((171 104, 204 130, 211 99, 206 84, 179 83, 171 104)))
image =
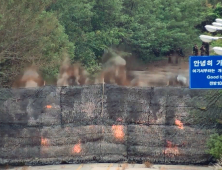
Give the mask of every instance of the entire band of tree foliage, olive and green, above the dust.
POLYGON ((90 72, 104 50, 127 47, 152 61, 178 47, 191 51, 203 21, 220 15, 215 0, 2 0, 0 76, 10 82, 30 64, 55 76, 63 53, 90 72), (209 4, 212 4, 211 6, 209 4), (213 14, 216 14, 215 16, 213 14))

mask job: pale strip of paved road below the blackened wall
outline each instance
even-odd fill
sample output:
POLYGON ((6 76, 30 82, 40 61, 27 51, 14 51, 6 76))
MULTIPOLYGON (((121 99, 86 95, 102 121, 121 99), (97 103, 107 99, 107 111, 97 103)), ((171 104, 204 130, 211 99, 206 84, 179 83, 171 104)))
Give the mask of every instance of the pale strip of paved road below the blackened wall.
MULTIPOLYGON (((208 166, 153 165, 146 168, 144 164, 70 164, 8 167, 7 170, 216 170, 208 166)), ((218 169, 219 170, 219 169, 218 169)))

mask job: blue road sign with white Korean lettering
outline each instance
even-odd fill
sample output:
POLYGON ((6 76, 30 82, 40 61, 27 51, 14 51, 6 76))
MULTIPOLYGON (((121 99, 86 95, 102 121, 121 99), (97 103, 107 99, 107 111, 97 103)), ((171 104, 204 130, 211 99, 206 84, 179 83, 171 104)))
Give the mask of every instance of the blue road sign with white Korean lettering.
POLYGON ((222 89, 222 56, 190 56, 190 89, 222 89))

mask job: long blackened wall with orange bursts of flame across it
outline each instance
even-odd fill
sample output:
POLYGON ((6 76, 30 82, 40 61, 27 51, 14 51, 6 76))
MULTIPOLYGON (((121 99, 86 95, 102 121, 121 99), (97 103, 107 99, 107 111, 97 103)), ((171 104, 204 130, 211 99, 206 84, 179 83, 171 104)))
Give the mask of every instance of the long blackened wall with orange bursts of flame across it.
POLYGON ((188 117, 206 104, 205 92, 115 85, 0 89, 0 164, 207 163, 206 140, 215 129, 188 117))

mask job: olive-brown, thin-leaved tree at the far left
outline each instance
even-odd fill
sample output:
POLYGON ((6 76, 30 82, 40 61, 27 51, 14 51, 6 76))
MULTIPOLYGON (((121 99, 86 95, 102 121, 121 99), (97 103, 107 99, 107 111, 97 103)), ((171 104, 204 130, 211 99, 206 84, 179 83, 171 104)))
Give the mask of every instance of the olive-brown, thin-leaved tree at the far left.
POLYGON ((55 76, 61 53, 73 57, 74 45, 53 13, 51 0, 0 1, 0 82, 10 85, 22 69, 35 64, 55 76), (56 65, 57 64, 57 65, 56 65))

